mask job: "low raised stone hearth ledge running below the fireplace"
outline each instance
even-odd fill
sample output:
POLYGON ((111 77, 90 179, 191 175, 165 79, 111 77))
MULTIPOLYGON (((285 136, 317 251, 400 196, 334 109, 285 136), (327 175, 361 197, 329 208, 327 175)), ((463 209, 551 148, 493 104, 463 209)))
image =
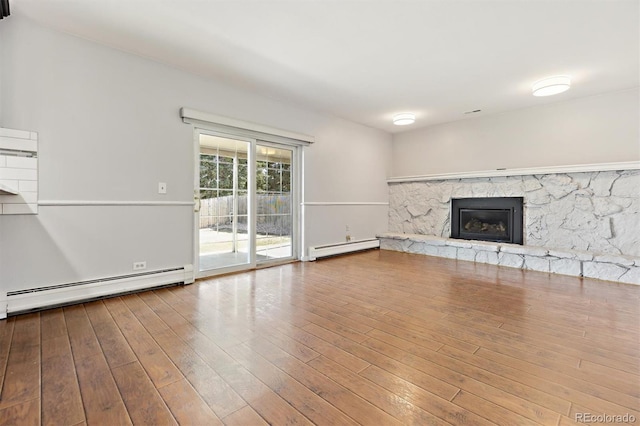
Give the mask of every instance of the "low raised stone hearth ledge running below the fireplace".
POLYGON ((640 257, 435 235, 384 233, 376 237, 386 250, 640 285, 640 257))

